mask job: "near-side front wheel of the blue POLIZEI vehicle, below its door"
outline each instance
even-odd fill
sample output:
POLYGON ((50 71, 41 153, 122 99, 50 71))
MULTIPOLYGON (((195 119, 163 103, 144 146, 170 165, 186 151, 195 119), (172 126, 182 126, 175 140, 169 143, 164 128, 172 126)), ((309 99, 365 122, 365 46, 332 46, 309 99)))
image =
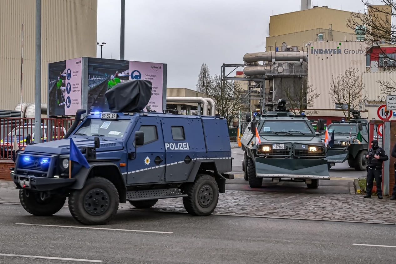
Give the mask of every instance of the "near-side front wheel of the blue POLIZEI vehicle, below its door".
POLYGON ((82 224, 103 225, 114 218, 119 202, 117 188, 110 180, 103 177, 92 177, 86 180, 81 190, 75 190, 70 194, 69 210, 72 217, 82 224), (95 198, 96 201, 95 199, 91 200, 94 196, 98 197, 95 198), (101 208, 105 207, 105 211, 100 215, 88 213, 88 211, 93 211, 91 213, 98 211, 98 208, 94 205, 95 202, 102 203, 102 205, 105 203, 103 206, 99 205, 99 212, 101 208))

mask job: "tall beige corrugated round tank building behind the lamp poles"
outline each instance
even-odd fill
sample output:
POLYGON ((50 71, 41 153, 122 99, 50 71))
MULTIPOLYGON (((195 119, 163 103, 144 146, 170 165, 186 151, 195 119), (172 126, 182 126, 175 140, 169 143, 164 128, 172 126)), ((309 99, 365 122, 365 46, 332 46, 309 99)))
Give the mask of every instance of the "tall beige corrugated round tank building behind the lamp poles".
MULTIPOLYGON (((48 63, 82 56, 96 57, 97 0, 41 2, 41 98, 45 107, 48 98, 48 63)), ((2 0, 0 9, 0 76, 3 94, 0 97, 0 109, 14 110, 21 103, 21 93, 23 102, 34 103, 36 1, 2 0)))

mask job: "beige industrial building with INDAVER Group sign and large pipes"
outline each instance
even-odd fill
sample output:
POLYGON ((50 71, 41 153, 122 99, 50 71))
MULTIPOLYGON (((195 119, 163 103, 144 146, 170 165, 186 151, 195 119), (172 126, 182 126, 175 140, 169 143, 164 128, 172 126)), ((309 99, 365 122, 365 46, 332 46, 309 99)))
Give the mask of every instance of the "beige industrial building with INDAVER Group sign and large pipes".
MULTIPOLYGON (((375 7, 389 9, 388 6, 375 7)), ((367 13, 373 12, 368 10, 367 13)), ((296 92, 306 82, 320 94, 306 107, 307 114, 313 119, 324 118, 332 122, 344 118, 345 105, 331 98, 331 77, 345 73, 347 68, 358 68, 367 100, 366 104, 354 108, 362 110, 362 117, 376 116, 369 111, 377 111, 375 105, 383 97, 379 81, 396 80, 396 72, 389 71, 396 65, 383 53, 396 58, 396 47, 385 45, 381 40, 368 44, 367 37, 358 28, 347 27, 348 19, 351 19, 350 11, 327 6, 311 8, 309 0, 301 0, 300 11, 270 16, 270 36, 265 52, 246 53, 243 65, 223 65, 222 76, 242 85, 248 102, 247 111, 274 108, 278 99, 286 98, 287 87, 292 86, 296 92), (234 74, 231 76, 227 72, 234 74)))

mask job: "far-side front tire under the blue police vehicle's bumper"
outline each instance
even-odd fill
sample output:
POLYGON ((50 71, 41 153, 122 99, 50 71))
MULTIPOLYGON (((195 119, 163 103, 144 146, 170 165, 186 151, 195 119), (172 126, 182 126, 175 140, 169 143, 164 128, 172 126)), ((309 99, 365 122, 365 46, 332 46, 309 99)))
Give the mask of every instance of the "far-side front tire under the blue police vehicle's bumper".
POLYGON ((50 196, 47 201, 41 201, 40 192, 19 189, 19 201, 28 213, 38 217, 48 217, 61 210, 65 205, 66 196, 50 196))

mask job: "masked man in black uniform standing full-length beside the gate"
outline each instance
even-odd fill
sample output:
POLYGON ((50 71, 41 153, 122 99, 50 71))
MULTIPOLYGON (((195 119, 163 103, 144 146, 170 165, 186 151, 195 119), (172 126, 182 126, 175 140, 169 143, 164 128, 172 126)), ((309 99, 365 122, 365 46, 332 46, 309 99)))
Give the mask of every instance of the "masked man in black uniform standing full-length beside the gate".
POLYGON ((371 191, 373 190, 373 181, 377 183, 377 196, 382 199, 382 163, 388 160, 389 157, 385 151, 378 146, 378 141, 371 141, 371 149, 367 152, 367 184, 366 195, 364 198, 371 198, 371 191))

